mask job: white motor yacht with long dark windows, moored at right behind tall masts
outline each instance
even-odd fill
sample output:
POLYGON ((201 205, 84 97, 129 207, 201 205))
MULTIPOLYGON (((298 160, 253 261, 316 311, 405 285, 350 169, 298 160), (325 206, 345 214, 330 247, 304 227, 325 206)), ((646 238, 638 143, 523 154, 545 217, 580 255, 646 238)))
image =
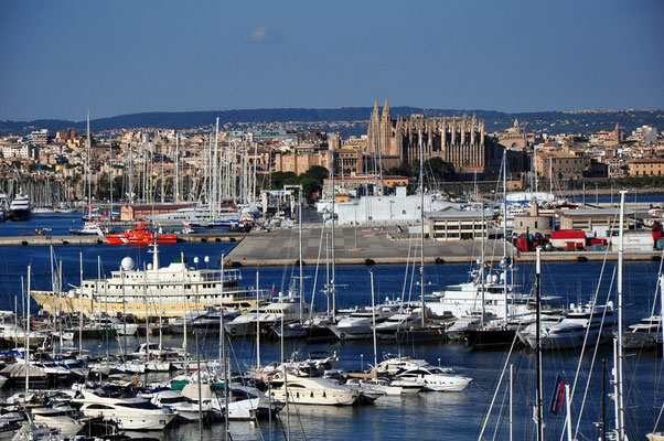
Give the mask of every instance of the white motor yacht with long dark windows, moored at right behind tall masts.
MULTIPOLYGON (((595 345, 597 340, 603 343, 611 337, 617 325, 613 315, 613 302, 606 305, 588 303, 585 306, 570 305, 570 311, 563 318, 553 318, 550 322, 540 322, 542 349, 568 349, 595 345), (588 333, 588 338, 586 338, 588 333)), ((536 323, 529 324, 520 335, 532 348, 537 347, 535 337, 536 323)))

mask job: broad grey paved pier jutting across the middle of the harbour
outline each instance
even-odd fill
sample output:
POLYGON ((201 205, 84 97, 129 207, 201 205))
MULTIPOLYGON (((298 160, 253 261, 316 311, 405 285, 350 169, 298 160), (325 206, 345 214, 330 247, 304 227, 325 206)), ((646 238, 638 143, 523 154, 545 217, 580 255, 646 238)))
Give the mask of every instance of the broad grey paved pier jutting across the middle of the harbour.
MULTIPOLYGON (((310 227, 302 229, 302 263, 325 263, 325 255, 332 257, 330 229, 310 227), (328 245, 326 245, 328 244, 328 245)), ((338 227, 334 237, 334 258, 338 265, 419 265, 419 236, 409 237, 405 227, 338 227)), ((425 240, 425 263, 469 263, 481 256, 481 240, 425 240)), ((488 261, 497 262, 503 257, 503 240, 484 241, 488 261)), ((522 252, 507 244, 507 256, 515 261, 534 261, 535 252, 522 252)), ((615 251, 544 251, 543 261, 600 261, 617 260, 615 251)), ((625 260, 660 259, 662 251, 625 251, 625 260)), ((235 266, 288 266, 299 260, 298 230, 278 229, 270 233, 253 232, 246 235, 227 259, 235 266)))

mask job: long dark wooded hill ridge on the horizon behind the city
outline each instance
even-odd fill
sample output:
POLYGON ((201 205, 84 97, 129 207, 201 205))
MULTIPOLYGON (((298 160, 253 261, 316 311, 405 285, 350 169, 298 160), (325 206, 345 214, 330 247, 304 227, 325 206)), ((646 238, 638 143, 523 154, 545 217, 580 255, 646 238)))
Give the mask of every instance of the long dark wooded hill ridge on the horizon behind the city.
MULTIPOLYGON (((302 126, 320 127, 333 121, 366 121, 371 116, 370 107, 343 107, 338 109, 247 109, 247 110, 207 110, 207 111, 152 111, 130 115, 119 115, 110 118, 99 118, 90 121, 94 131, 130 129, 130 128, 170 128, 191 129, 208 126, 219 118, 222 125, 233 127, 240 122, 301 122, 302 126), (318 125, 314 125, 318 123, 318 125)), ((504 130, 515 118, 528 131, 548 133, 590 133, 598 130, 611 130, 615 123, 631 131, 643 125, 661 129, 664 122, 662 110, 583 110, 583 111, 542 111, 542 112, 502 112, 481 109, 425 109, 418 107, 394 107, 393 116, 407 117, 411 114, 427 116, 475 115, 485 121, 488 131, 504 130), (657 126, 658 125, 658 126, 657 126)), ((25 133, 35 129, 50 131, 73 127, 85 129, 85 121, 66 121, 60 119, 40 119, 33 121, 0 121, 0 133, 25 133)), ((366 131, 366 122, 354 125, 353 128, 339 129, 342 135, 358 135, 366 131)))

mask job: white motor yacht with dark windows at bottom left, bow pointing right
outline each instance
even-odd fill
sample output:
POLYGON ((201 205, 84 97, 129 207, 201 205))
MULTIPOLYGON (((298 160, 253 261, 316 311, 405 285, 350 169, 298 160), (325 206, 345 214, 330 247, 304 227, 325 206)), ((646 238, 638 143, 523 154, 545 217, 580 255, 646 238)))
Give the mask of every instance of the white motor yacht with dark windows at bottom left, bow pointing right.
POLYGON ((160 408, 133 395, 118 395, 110 387, 94 391, 81 389, 81 397, 72 402, 81 404, 81 411, 86 417, 104 417, 114 421, 124 430, 162 430, 174 418, 171 409, 160 408))

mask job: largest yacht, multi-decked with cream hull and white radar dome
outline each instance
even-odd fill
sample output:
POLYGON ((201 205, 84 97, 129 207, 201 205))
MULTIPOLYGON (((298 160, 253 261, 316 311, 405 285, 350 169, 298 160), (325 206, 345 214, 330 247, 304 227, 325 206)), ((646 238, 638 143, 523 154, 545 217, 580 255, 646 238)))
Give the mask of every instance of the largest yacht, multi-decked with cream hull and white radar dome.
POLYGON ((111 315, 162 319, 222 304, 248 309, 269 298, 268 290, 257 292, 253 287, 240 287, 238 269, 224 269, 222 278, 218 269, 196 269, 180 257, 168 267, 160 267, 157 245, 152 252, 153 262, 146 270, 133 269, 133 260, 126 257, 120 270, 111 271, 110 278, 84 280, 81 287, 62 293, 60 298, 54 291, 31 290, 30 294, 43 311, 51 314, 82 310, 84 315, 104 311, 111 315))

